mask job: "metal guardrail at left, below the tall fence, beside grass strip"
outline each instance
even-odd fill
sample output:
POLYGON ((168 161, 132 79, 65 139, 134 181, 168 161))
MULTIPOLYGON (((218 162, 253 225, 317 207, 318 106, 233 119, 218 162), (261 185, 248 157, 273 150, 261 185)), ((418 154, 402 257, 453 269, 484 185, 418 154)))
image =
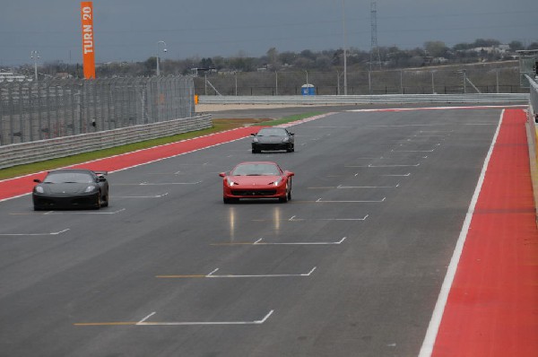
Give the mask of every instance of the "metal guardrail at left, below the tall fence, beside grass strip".
POLYGON ((212 126, 211 115, 0 146, 0 169, 177 135, 212 126))

